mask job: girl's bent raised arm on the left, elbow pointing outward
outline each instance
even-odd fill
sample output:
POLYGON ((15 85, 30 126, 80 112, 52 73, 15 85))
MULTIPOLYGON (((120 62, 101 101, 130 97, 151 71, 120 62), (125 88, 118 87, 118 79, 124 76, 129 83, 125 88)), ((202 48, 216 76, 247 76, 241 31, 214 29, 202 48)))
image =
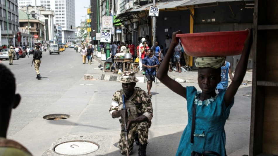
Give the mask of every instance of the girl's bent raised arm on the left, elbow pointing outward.
POLYGON ((171 44, 169 46, 168 52, 166 53, 159 67, 159 70, 157 72, 157 78, 169 89, 186 98, 186 87, 183 87, 180 83, 171 79, 167 74, 171 55, 176 45, 179 44, 179 38, 176 38, 176 34, 181 34, 181 31, 179 30, 177 32, 173 32, 171 44))

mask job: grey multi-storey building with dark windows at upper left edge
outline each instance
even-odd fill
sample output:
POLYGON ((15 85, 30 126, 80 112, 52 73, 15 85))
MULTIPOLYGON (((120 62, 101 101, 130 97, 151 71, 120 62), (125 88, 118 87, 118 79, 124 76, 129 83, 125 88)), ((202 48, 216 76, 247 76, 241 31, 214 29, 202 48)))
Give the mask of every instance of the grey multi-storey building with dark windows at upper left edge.
POLYGON ((0 45, 10 44, 15 46, 15 36, 19 27, 17 0, 0 0, 0 25, 0 45))

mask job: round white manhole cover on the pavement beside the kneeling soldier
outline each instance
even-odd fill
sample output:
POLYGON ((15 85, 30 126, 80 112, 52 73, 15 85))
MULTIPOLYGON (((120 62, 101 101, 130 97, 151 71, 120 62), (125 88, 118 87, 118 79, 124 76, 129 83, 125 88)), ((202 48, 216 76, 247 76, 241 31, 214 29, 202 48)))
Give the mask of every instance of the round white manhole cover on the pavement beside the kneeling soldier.
POLYGON ((99 145, 92 141, 74 140, 54 146, 53 151, 61 155, 84 155, 95 152, 99 145))

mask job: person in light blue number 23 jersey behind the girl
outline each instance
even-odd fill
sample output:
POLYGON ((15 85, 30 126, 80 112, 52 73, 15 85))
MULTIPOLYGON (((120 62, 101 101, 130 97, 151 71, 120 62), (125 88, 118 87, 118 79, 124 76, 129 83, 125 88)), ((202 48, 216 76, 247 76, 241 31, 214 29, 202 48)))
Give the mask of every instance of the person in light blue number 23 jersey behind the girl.
MULTIPOLYGON (((224 57, 224 59, 226 60, 226 57, 224 57)), ((228 83, 229 83, 228 74, 229 74, 229 77, 232 81, 233 80, 233 74, 232 74, 232 70, 230 68, 230 62, 225 61, 223 63, 223 66, 221 66, 221 81, 220 81, 220 83, 218 83, 218 85, 216 87, 218 92, 221 92, 223 90, 227 90, 228 83)))

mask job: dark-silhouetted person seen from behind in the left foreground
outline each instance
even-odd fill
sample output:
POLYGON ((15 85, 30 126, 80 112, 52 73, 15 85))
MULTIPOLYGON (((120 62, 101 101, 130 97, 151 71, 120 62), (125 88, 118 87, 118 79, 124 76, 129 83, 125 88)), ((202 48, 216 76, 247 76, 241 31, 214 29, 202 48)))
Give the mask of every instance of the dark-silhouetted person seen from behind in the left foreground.
MULTIPOLYGON (((20 95, 16 94, 16 79, 13 73, 3 64, 0 64, 0 145, 1 155, 32 156, 20 143, 7 139, 7 131, 13 109, 19 105, 20 95)), ((13 112, 14 113, 14 112, 13 112)))

